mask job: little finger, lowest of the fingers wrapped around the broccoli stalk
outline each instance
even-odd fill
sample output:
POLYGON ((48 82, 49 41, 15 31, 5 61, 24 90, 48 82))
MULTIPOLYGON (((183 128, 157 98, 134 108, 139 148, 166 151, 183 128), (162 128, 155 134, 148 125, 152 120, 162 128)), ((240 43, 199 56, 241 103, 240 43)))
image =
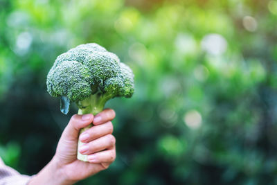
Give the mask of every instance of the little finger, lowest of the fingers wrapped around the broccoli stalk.
POLYGON ((88 155, 87 160, 90 163, 108 163, 111 164, 116 159, 116 150, 105 150, 102 152, 97 152, 93 155, 88 155))

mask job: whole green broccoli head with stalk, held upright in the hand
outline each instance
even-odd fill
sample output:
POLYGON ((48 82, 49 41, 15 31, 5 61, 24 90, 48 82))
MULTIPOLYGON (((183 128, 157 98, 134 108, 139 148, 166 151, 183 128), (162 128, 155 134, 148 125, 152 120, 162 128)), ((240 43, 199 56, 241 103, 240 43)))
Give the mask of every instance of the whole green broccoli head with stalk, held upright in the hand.
MULTIPOLYGON (((59 55, 46 80, 47 91, 60 97, 63 114, 71 103, 78 106, 78 114, 96 115, 107 100, 134 94, 134 74, 119 58, 98 44, 82 44, 59 55)), ((91 127, 89 125, 89 127, 91 127)), ((89 127, 80 130, 80 134, 89 127)), ((78 148, 82 143, 78 141, 78 148)), ((78 152, 78 159, 87 161, 78 152)))

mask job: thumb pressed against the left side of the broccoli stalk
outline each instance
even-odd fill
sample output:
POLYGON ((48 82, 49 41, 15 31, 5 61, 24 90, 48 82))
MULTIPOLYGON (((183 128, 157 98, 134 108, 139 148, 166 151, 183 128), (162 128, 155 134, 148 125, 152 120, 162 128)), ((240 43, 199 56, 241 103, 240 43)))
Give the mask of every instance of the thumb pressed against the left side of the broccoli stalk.
POLYGON ((62 132, 62 139, 66 139, 68 141, 78 141, 80 129, 87 127, 92 123, 92 121, 92 114, 74 114, 71 117, 69 124, 65 127, 64 132, 62 132))

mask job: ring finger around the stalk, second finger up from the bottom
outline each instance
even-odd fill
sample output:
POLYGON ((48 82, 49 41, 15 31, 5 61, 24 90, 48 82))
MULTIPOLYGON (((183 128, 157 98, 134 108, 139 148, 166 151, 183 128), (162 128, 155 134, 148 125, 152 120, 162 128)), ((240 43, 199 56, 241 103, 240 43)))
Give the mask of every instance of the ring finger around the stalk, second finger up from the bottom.
POLYGON ((95 152, 100 152, 105 149, 114 148, 115 144, 115 137, 111 134, 108 134, 89 143, 85 143, 80 147, 79 152, 83 155, 91 155, 95 152))

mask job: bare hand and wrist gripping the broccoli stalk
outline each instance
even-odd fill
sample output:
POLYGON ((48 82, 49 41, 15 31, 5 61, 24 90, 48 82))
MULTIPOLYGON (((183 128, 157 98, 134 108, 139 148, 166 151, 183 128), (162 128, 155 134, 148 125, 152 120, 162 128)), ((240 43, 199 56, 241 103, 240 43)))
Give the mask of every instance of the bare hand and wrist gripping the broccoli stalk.
POLYGON ((116 139, 111 124, 115 116, 113 109, 104 109, 95 117, 92 114, 73 115, 62 132, 55 156, 28 184, 74 184, 107 169, 116 159, 116 139), (90 123, 94 126, 79 136, 80 129, 90 123), (88 155, 89 162, 76 157, 78 138, 85 143, 79 151, 88 155))

